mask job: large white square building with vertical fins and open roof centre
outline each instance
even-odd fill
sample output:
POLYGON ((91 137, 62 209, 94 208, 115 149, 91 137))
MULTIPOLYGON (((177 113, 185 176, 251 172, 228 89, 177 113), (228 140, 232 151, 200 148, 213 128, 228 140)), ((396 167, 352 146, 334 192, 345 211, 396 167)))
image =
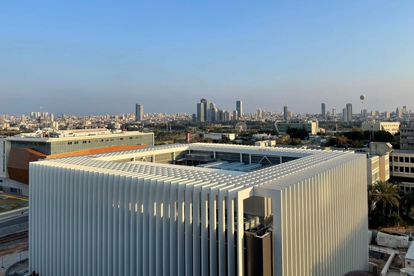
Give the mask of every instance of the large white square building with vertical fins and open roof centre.
POLYGON ((366 170, 366 156, 353 152, 224 144, 32 162, 30 273, 368 270, 366 170), (176 165, 206 160, 264 166, 241 172, 176 165))

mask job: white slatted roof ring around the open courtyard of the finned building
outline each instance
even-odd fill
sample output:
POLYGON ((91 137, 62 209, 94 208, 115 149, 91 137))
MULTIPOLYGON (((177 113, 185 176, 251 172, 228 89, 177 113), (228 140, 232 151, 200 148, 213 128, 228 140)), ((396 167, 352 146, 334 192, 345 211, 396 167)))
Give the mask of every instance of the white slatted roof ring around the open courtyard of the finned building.
MULTIPOLYGON (((136 150, 125 150, 119 152, 106 152, 95 155, 82 155, 77 157, 57 158, 40 161, 45 166, 57 166, 88 170, 93 172, 112 173, 115 175, 144 176, 151 179, 163 177, 174 177, 174 179, 188 179, 197 184, 201 182, 214 181, 216 185, 226 183, 226 189, 230 187, 273 185, 275 179, 280 177, 295 177, 295 174, 315 174, 324 171, 328 167, 335 166, 335 158, 339 163, 344 162, 346 156, 354 159, 353 152, 306 150, 297 148, 258 148, 254 146, 238 146, 227 144, 171 144, 166 146, 154 146, 139 148, 136 150), (168 152, 180 152, 183 150, 215 151, 215 152, 237 152, 251 155, 295 157, 297 159, 276 166, 255 170, 253 172, 229 172, 211 168, 195 168, 192 166, 179 166, 172 164, 155 164, 144 161, 134 161, 139 157, 163 154, 168 152), (130 161, 125 161, 125 160, 130 161), (224 182, 222 182, 224 181, 224 182)), ((282 184, 283 186, 283 184, 282 184)), ((277 186, 275 186, 277 188, 277 186)))

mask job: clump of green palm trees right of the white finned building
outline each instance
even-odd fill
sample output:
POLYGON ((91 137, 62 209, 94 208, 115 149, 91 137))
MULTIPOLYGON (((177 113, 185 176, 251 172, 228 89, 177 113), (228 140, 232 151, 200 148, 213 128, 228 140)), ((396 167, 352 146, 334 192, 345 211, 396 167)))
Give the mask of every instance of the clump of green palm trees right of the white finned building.
POLYGON ((413 206, 414 193, 411 190, 402 190, 397 185, 384 181, 368 185, 370 227, 400 225, 403 222, 400 210, 408 217, 413 206))

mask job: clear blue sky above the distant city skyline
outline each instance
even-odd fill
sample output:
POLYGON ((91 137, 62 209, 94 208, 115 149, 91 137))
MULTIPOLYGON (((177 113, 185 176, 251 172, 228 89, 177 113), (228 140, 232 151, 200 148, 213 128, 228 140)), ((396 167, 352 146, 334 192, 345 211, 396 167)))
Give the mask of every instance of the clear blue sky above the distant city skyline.
POLYGON ((0 114, 414 110, 413 0, 60 2, 0 1, 0 114))

